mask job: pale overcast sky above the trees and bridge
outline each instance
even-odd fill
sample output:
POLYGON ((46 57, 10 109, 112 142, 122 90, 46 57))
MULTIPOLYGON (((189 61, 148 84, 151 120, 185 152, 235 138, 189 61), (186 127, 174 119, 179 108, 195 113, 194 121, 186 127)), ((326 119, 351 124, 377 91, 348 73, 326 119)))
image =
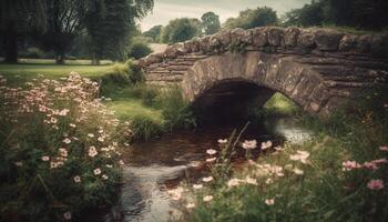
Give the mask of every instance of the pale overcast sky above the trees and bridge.
POLYGON ((154 10, 140 23, 142 31, 156 24, 167 24, 171 19, 190 17, 201 18, 207 11, 219 16, 221 22, 229 17, 237 17, 245 9, 270 7, 278 16, 290 9, 300 8, 310 0, 154 0, 154 10))

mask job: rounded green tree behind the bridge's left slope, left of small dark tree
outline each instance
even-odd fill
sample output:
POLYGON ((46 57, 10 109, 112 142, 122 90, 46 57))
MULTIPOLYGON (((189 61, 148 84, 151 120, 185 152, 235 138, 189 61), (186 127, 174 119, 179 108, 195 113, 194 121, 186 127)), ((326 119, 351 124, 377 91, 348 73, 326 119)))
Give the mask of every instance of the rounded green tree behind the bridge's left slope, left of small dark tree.
POLYGON ((174 19, 163 28, 161 40, 164 43, 176 43, 201 34, 201 21, 197 19, 174 19))

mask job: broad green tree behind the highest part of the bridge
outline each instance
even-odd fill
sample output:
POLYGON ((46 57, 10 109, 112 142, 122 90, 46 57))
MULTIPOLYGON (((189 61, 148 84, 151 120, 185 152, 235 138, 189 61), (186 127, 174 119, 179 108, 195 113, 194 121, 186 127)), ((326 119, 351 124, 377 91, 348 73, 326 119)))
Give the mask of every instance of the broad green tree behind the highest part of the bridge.
POLYGON ((247 9, 239 12, 237 18, 229 18, 224 23, 224 28, 252 29, 255 27, 273 26, 277 22, 277 14, 272 8, 264 7, 257 9, 247 9))

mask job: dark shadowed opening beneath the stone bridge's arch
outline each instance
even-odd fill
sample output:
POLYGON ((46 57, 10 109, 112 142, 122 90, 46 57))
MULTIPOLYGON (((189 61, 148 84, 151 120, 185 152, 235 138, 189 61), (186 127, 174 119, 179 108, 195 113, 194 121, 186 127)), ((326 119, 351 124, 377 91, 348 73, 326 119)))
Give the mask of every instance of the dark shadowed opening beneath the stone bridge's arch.
POLYGON ((200 124, 234 124, 249 119, 249 108, 263 107, 275 93, 244 80, 218 82, 205 90, 194 102, 200 124))

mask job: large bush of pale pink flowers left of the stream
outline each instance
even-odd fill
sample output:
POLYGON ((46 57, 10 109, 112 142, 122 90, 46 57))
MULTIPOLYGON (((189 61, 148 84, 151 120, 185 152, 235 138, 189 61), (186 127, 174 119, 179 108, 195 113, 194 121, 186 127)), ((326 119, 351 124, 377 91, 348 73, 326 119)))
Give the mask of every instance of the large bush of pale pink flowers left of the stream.
POLYGON ((96 93, 76 73, 0 87, 0 221, 63 221, 113 203, 130 132, 96 93))

